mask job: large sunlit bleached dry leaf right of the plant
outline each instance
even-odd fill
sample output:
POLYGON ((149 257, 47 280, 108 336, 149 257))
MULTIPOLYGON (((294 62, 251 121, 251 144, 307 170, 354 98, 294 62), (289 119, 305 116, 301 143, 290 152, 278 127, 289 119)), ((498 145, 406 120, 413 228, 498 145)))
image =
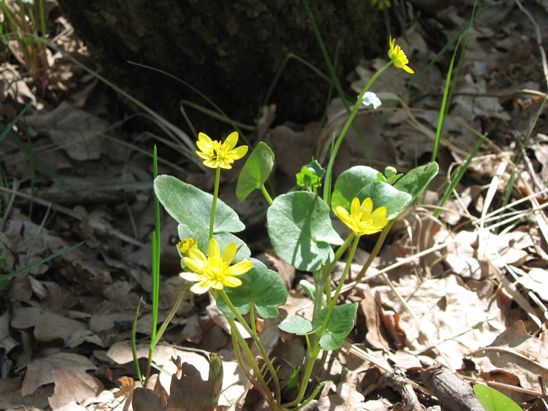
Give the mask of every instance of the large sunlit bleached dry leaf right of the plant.
POLYGON ((422 282, 409 276, 395 286, 420 324, 387 286, 373 290, 377 290, 384 310, 399 314, 397 326, 406 334, 406 345, 423 351, 437 343, 454 369, 462 366, 464 355, 484 347, 504 329, 497 302, 468 290, 456 275, 422 282))

